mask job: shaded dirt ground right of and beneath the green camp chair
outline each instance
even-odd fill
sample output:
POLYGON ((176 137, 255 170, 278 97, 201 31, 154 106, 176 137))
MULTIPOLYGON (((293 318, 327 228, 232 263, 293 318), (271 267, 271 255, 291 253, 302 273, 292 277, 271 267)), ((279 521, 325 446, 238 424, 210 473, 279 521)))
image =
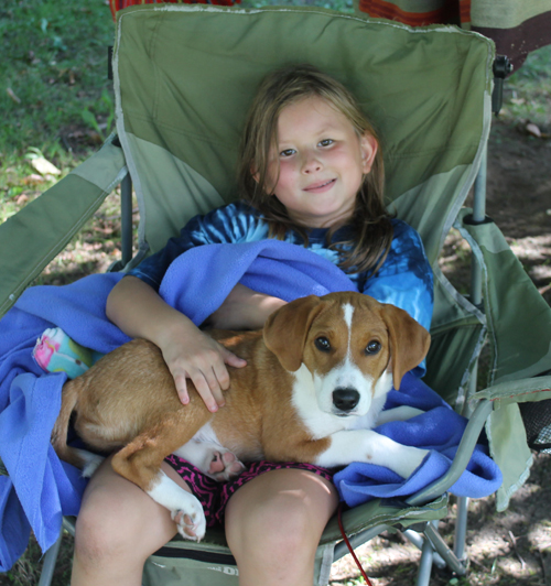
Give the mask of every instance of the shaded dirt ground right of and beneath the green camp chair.
MULTIPOLYGON (((488 150, 487 215, 548 303, 551 303, 551 140, 497 121, 488 150)), ((463 289, 469 272, 467 247, 452 234, 442 268, 463 289)), ((440 530, 453 543, 455 504, 440 530)), ((374 586, 414 584, 421 553, 400 534, 382 534, 358 550, 374 586)), ((433 569, 431 586, 551 586, 551 455, 534 454, 530 478, 504 513, 495 499, 471 501, 466 578, 433 569)), ((350 555, 333 565, 332 586, 348 585, 359 572, 350 555)), ((354 584, 356 584, 354 582, 354 584)))

